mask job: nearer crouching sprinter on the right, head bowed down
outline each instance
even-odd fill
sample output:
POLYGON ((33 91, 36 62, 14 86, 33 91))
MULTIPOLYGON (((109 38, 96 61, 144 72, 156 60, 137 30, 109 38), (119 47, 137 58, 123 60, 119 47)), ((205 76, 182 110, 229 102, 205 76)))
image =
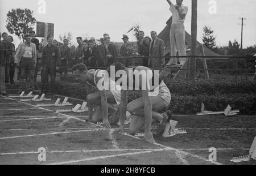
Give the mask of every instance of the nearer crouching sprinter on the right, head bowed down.
POLYGON ((163 133, 166 123, 171 118, 171 111, 158 113, 159 110, 166 108, 171 101, 171 93, 166 84, 159 79, 157 71, 144 66, 126 68, 122 63, 114 63, 108 68, 108 72, 111 78, 113 74, 115 75, 116 84, 122 84, 119 130, 123 132, 126 110, 128 110, 133 116, 129 133, 135 135, 145 132, 144 140, 154 143, 155 140, 150 131, 151 123, 159 122, 158 132, 163 133), (127 81, 126 85, 125 81, 127 81), (141 91, 142 96, 127 104, 127 91, 131 90, 141 91))

